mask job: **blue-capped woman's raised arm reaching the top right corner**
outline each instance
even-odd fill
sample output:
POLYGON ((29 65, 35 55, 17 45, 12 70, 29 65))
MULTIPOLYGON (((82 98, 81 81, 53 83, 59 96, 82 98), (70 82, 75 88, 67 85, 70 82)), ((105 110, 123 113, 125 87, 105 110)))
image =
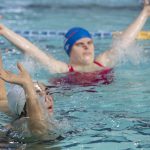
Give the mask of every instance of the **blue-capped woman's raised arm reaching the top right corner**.
POLYGON ((121 34, 118 43, 113 47, 100 54, 96 60, 101 62, 104 66, 113 67, 116 65, 115 57, 117 57, 116 49, 126 49, 134 42, 138 33, 143 28, 145 22, 150 16, 150 0, 144 0, 144 8, 136 18, 136 20, 121 34))

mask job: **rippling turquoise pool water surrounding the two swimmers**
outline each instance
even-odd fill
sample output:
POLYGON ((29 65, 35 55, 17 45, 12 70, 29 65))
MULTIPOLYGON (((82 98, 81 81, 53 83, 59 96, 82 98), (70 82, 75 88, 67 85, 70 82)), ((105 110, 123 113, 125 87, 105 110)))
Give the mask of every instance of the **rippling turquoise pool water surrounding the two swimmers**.
MULTIPOLYGON (((13 3, 5 1, 0 4, 0 14, 3 15, 4 24, 23 32, 27 38, 56 58, 67 61, 68 58, 62 50, 63 37, 61 34, 55 34, 56 32, 64 32, 72 26, 83 26, 92 33, 120 31, 131 23, 140 11, 137 1, 119 1, 117 6, 114 6, 115 0, 109 3, 106 6, 103 1, 90 0, 83 0, 83 4, 67 0, 54 3, 48 0, 41 3, 33 3, 32 0, 16 0, 13 3), (126 7, 122 7, 125 4, 126 7), (24 31, 30 34, 25 34, 24 31), (34 34, 31 34, 33 31, 34 34), (42 31, 51 31, 54 34, 44 35, 41 34, 42 31)), ((149 28, 148 24, 149 22, 145 29, 149 28)), ((95 37, 96 53, 109 48, 111 41, 110 37, 95 37)), ((32 59, 24 58, 6 40, 1 39, 0 42, 6 68, 16 70, 16 61, 20 60, 25 66, 30 66, 28 70, 35 80, 47 82, 49 78, 56 76, 49 74, 32 59)), ((138 43, 142 45, 138 48, 140 53, 137 53, 135 46, 130 49, 129 59, 124 57, 115 68, 113 83, 52 89, 55 116, 63 129, 64 139, 27 145, 15 142, 7 146, 10 149, 21 146, 22 149, 42 150, 150 149, 150 42, 144 40, 138 43)), ((10 118, 1 113, 1 126, 9 120, 10 118)))

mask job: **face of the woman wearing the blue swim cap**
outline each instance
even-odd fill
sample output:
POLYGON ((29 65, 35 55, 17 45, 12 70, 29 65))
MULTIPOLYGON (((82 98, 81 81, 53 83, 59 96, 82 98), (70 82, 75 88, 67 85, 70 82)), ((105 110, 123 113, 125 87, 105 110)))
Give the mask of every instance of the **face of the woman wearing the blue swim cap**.
POLYGON ((94 44, 90 38, 78 40, 72 47, 70 61, 74 64, 89 65, 94 61, 94 44))

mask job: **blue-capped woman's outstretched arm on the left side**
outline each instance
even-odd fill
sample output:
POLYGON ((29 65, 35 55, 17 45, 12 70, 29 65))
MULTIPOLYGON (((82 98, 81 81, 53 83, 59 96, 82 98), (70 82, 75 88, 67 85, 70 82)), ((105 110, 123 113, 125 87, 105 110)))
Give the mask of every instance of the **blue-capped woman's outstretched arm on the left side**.
POLYGON ((0 24, 0 35, 5 37, 16 47, 18 47, 23 53, 26 53, 33 58, 41 62, 50 72, 68 72, 68 66, 66 63, 54 59, 52 56, 47 55, 37 46, 32 44, 30 41, 13 32, 6 26, 0 24))

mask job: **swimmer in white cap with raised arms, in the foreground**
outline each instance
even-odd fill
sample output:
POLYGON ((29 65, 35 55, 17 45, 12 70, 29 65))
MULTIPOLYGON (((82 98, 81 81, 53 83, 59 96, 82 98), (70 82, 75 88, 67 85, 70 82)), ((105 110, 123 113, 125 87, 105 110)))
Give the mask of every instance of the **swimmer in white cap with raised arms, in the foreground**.
MULTIPOLYGON (((43 84, 33 83, 24 67, 18 63, 19 74, 13 74, 2 67, 0 58, 0 111, 17 117, 15 122, 27 118, 29 133, 40 140, 57 138, 50 133, 54 125, 49 124, 53 114, 53 99, 46 93, 43 84), (5 82, 16 84, 6 95, 5 82), (8 99, 7 99, 8 97, 8 99)), ((13 123, 13 125, 15 124, 13 123)), ((19 123, 19 126, 21 124, 19 123)), ((7 126, 10 129, 12 126, 7 126)))

